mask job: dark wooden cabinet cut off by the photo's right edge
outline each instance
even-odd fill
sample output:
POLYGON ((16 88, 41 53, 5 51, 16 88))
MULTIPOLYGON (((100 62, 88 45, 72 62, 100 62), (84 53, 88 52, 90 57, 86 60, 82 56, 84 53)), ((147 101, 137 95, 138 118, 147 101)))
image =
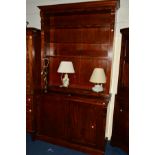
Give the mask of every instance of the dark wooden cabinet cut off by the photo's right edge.
POLYGON ((129 151, 129 29, 121 29, 118 92, 115 99, 112 143, 129 151))

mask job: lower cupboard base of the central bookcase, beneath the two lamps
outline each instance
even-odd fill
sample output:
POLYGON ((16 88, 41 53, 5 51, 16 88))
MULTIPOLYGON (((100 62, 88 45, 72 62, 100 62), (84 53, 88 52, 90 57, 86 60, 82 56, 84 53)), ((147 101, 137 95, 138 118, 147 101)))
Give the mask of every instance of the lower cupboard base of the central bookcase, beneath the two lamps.
POLYGON ((104 94, 51 87, 38 104, 37 137, 102 154, 108 100, 104 94))

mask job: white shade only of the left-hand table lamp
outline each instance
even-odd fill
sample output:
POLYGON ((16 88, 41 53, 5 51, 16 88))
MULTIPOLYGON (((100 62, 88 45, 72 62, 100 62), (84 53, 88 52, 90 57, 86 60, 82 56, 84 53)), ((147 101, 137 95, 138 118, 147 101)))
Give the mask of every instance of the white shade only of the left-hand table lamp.
POLYGON ((58 73, 75 73, 73 63, 71 61, 61 61, 58 73))

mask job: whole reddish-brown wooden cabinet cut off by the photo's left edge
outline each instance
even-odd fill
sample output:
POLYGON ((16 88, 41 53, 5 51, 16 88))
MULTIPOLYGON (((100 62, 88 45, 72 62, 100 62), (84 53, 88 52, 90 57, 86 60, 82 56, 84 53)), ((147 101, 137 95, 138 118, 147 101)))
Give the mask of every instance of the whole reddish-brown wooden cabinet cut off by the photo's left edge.
POLYGON ((40 89, 40 30, 26 29, 26 131, 34 132, 34 95, 40 89))

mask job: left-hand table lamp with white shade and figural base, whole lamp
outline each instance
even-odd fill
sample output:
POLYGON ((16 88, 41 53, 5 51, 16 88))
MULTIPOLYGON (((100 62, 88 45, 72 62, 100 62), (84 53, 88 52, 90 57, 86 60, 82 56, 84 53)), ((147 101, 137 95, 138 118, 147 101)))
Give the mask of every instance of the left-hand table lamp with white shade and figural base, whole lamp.
POLYGON ((68 73, 75 73, 73 63, 71 61, 61 61, 57 72, 65 73, 64 77, 63 74, 61 76, 62 85, 60 87, 68 87, 69 86, 68 73))

